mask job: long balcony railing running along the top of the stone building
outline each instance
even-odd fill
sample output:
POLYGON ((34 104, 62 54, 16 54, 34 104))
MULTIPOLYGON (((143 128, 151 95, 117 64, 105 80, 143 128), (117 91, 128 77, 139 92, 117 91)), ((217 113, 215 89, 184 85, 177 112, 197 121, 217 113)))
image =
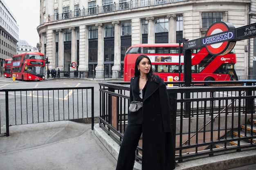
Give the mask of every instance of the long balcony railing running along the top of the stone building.
POLYGON ((173 4, 175 2, 183 2, 187 0, 130 0, 122 1, 120 3, 103 4, 102 6, 93 6, 88 9, 76 9, 75 11, 66 11, 64 13, 56 13, 54 15, 48 15, 47 22, 66 20, 70 18, 77 18, 87 15, 96 15, 99 13, 108 13, 113 11, 124 11, 128 9, 135 9, 141 7, 150 7, 155 5, 173 4))

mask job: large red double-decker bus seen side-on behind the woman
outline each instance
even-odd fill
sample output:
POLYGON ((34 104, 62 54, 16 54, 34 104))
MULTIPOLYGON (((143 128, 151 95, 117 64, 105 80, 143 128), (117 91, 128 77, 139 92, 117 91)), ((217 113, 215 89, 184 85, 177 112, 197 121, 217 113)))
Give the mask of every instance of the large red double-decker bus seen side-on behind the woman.
MULTIPOLYGON (((134 76, 137 57, 145 54, 150 58, 155 74, 164 81, 173 76, 173 81, 184 81, 184 56, 182 45, 179 44, 137 44, 129 47, 124 57, 124 81, 129 82, 134 76), (179 68, 181 71, 179 73, 179 68)), ((229 81, 237 79, 234 65, 236 54, 234 50, 226 55, 211 55, 206 48, 194 49, 191 55, 192 81, 229 81), (232 73, 232 76, 231 74, 232 73)))

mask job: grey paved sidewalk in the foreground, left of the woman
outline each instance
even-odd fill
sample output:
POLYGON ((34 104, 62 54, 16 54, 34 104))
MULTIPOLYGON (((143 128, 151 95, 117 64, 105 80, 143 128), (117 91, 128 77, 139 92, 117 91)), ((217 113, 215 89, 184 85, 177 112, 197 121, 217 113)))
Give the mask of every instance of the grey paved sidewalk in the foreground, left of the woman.
MULTIPOLYGON (((4 132, 1 127, 1 132, 4 132)), ((0 136, 0 170, 115 170, 91 124, 56 121, 10 126, 0 136)))

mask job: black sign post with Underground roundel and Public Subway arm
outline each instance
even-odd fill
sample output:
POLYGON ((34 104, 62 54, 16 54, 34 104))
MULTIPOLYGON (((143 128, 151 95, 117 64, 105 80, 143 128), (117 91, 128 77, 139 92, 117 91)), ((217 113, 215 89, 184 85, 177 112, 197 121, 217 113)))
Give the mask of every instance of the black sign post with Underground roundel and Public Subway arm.
MULTIPOLYGON (((229 53, 235 46, 236 41, 245 40, 256 37, 256 23, 246 26, 235 27, 229 22, 215 22, 207 30, 204 38, 198 38, 183 43, 184 54, 184 80, 185 86, 191 86, 191 50, 205 47, 212 55, 225 55, 229 53)), ((229 71, 231 79, 237 79, 234 71, 229 71)), ((185 98, 189 98, 190 93, 185 94, 185 98)), ((251 95, 251 94, 249 94, 251 95)), ((248 106, 247 113, 251 112, 252 100, 246 100, 248 106)), ((185 102, 185 115, 190 116, 190 102, 185 102)))

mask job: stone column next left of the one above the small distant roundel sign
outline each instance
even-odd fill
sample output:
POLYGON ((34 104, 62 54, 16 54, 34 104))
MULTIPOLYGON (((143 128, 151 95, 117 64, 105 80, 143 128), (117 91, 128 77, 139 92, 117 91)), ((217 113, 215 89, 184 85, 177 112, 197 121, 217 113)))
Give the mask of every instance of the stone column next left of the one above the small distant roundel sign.
MULTIPOLYGON (((57 29, 58 32, 58 68, 64 69, 64 43, 63 43, 63 30, 57 29)), ((55 68, 55 66, 53 66, 55 68)))

